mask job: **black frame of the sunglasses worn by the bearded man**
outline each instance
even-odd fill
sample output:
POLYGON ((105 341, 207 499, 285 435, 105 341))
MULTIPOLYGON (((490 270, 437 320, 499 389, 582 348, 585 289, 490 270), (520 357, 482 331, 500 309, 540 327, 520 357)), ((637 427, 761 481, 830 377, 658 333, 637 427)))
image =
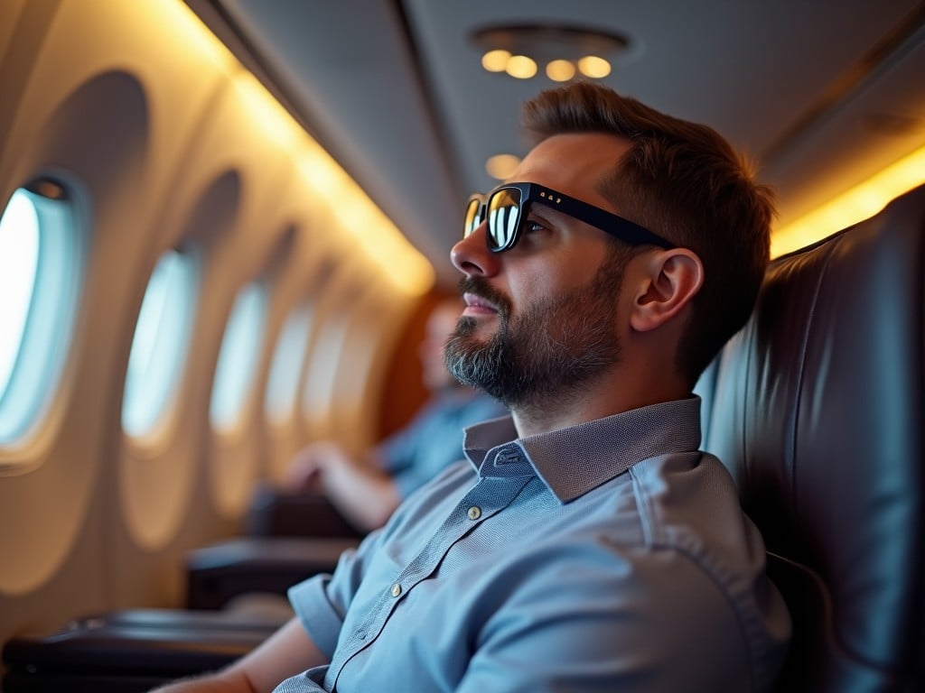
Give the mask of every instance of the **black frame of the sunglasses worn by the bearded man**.
POLYGON ((537 185, 536 183, 505 183, 488 191, 484 195, 475 194, 471 196, 465 207, 465 221, 469 221, 470 214, 473 213, 473 204, 477 203, 478 207, 475 209, 475 213, 469 224, 463 225, 463 237, 472 234, 472 232, 485 221, 488 204, 491 198, 504 190, 517 190, 520 193, 520 203, 517 205, 517 223, 514 225, 511 237, 507 238, 504 243, 498 244, 497 238, 499 234, 491 228, 492 220, 488 219, 486 241, 488 249, 492 252, 504 252, 517 245, 517 241, 521 236, 524 220, 529 214, 529 205, 533 202, 539 202, 551 209, 566 213, 578 221, 599 228, 604 233, 619 238, 630 245, 639 246, 650 244, 664 249, 675 248, 675 245, 665 238, 653 234, 647 228, 635 224, 628 219, 624 219, 622 216, 608 212, 607 210, 602 210, 600 207, 596 207, 593 204, 577 200, 561 192, 557 192, 556 190, 537 185))

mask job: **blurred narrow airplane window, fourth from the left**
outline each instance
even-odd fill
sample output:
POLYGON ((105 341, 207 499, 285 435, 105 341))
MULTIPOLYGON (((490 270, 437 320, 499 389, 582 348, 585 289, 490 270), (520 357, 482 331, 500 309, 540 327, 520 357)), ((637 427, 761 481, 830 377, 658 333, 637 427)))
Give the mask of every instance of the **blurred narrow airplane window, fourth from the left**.
POLYGON ((305 304, 290 314, 279 335, 264 402, 266 415, 273 423, 284 423, 292 415, 311 325, 312 307, 305 304))

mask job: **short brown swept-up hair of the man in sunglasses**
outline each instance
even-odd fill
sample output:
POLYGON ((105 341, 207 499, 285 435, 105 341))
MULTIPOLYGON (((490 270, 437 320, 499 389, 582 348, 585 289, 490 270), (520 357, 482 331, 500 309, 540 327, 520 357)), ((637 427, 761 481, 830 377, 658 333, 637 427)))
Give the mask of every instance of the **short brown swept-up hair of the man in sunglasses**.
POLYGON ((626 138, 598 192, 636 224, 697 253, 704 283, 692 301, 676 366, 693 386, 748 320, 771 248, 771 190, 712 128, 656 111, 603 86, 575 82, 524 104, 533 143, 598 132, 626 138))

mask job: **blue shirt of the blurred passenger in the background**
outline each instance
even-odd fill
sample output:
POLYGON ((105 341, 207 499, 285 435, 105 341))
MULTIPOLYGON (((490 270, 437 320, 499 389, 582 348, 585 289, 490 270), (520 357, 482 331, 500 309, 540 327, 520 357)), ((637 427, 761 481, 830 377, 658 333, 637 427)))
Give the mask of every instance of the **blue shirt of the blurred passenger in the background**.
POLYGON ((462 430, 507 409, 488 395, 455 389, 435 395, 407 427, 376 448, 401 498, 462 459, 462 430))

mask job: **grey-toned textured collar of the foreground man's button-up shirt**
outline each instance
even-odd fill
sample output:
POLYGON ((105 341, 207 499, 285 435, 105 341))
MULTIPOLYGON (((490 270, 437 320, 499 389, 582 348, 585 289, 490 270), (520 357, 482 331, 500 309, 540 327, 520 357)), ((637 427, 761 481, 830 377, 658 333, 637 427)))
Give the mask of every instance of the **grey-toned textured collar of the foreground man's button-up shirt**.
POLYGON ((465 456, 480 476, 500 466, 511 474, 512 455, 523 456, 562 503, 623 474, 649 457, 697 450, 700 398, 661 402, 586 421, 576 426, 518 438, 510 416, 465 430, 465 456))

